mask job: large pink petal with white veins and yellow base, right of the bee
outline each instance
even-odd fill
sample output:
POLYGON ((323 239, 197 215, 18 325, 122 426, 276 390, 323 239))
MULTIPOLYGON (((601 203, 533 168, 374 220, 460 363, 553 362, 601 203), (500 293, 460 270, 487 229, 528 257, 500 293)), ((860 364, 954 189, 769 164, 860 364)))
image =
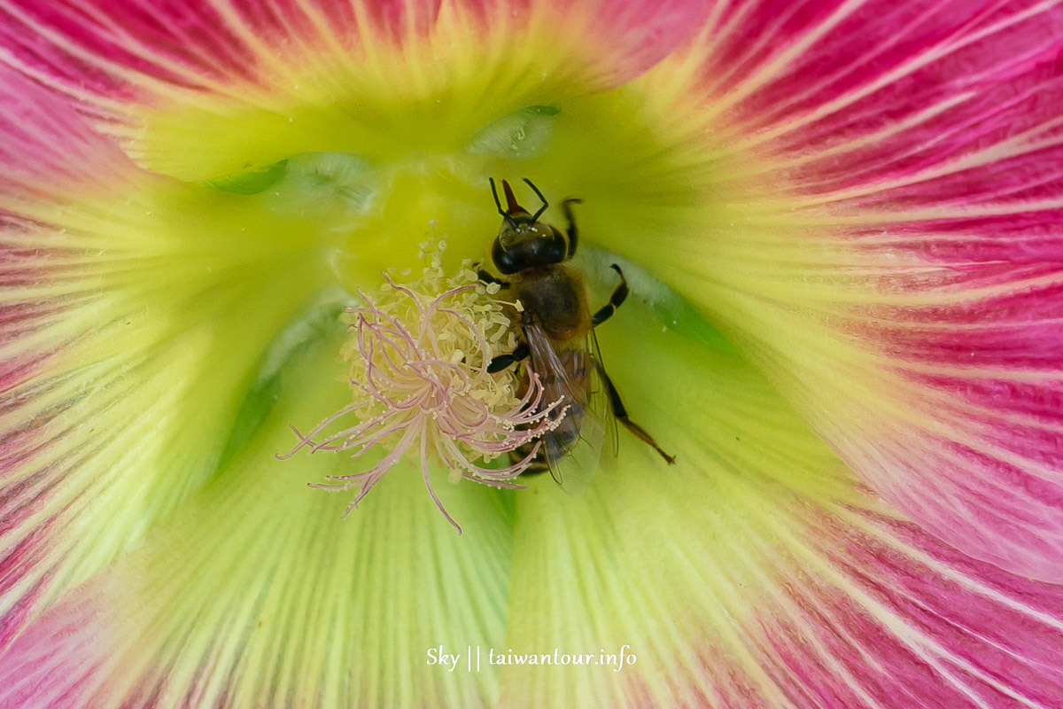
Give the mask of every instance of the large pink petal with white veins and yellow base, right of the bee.
POLYGON ((1063 579, 1063 6, 719 9, 709 193, 755 216, 676 282, 888 501, 1063 579))

